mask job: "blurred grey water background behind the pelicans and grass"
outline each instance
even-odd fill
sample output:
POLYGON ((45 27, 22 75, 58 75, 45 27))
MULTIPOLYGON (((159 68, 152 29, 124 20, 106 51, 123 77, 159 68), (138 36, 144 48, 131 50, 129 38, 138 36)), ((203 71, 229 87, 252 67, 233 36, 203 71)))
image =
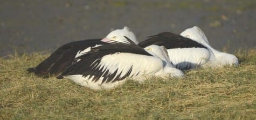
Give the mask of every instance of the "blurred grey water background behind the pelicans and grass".
POLYGON ((64 43, 103 38, 130 27, 137 39, 202 28, 211 45, 230 53, 256 48, 255 0, 0 2, 0 56, 53 51, 64 43))

